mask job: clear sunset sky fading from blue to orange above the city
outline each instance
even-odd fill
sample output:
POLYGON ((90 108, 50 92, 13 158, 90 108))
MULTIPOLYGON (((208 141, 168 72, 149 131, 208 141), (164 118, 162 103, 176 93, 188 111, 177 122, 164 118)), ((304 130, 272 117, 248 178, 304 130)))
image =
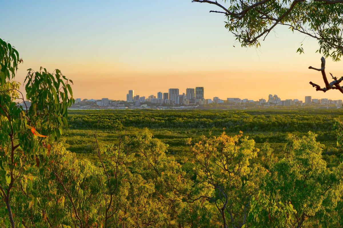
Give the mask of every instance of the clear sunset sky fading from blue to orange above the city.
MULTIPOLYGON (((241 48, 224 27, 215 6, 191 0, 0 0, 0 38, 19 51, 26 69, 60 69, 72 79, 74 98, 126 99, 157 95, 169 88, 204 87, 205 98, 258 100, 342 99, 323 86, 316 40, 276 27, 261 48, 241 48), (305 54, 296 50, 303 41, 305 54)), ((327 59, 326 69, 341 77, 342 62, 327 59)), ((22 88, 23 90, 23 88, 22 88)))

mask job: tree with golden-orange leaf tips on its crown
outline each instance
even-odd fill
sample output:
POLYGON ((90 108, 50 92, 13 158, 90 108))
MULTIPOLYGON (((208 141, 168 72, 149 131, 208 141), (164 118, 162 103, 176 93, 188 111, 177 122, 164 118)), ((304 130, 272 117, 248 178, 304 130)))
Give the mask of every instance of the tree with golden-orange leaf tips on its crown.
POLYGON ((250 164, 258 152, 254 140, 243 134, 202 136, 191 150, 195 157, 196 187, 190 199, 203 198, 212 204, 223 228, 245 226, 251 198, 258 193, 265 175, 262 166, 250 164))

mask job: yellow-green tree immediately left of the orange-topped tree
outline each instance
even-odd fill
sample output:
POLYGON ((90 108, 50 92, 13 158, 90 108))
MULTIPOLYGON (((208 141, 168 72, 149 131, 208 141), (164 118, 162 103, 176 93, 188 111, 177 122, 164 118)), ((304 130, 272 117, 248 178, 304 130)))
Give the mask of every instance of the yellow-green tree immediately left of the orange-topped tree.
POLYGON ((131 172, 139 174, 142 183, 153 187, 142 188, 146 200, 131 206, 134 214, 144 214, 133 221, 132 226, 178 227, 178 218, 185 202, 177 194, 176 187, 184 185, 185 173, 174 158, 166 156, 167 145, 154 138, 148 129, 143 129, 133 137, 128 137, 123 149, 134 155, 129 166, 131 172))

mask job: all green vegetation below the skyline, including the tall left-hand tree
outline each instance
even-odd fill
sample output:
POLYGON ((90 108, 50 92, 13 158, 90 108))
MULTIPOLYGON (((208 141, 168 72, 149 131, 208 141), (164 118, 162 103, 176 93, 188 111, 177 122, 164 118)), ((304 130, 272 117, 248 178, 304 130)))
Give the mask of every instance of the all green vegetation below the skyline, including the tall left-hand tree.
POLYGON ((15 102, 19 63, 0 40, 1 227, 343 227, 339 110, 68 115, 58 69, 15 102))

